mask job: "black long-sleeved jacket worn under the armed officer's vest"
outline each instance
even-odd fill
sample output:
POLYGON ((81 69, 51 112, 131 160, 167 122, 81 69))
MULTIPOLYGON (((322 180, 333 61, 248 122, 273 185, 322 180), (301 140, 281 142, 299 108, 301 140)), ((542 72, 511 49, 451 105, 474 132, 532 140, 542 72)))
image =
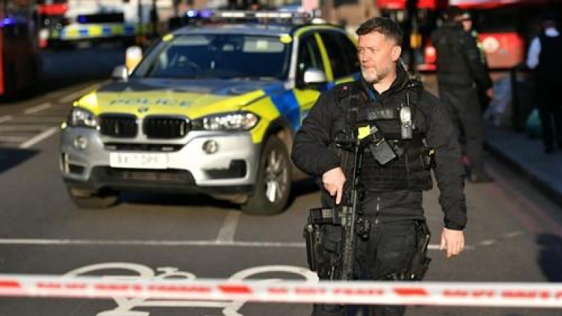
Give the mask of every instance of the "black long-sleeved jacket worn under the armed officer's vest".
MULTIPOLYGON (((393 93, 406 88, 408 75, 401 67, 398 77, 388 91, 378 95, 377 100, 384 104, 391 100, 393 93)), ((332 140, 344 126, 344 114, 336 104, 337 93, 345 92, 346 85, 339 84, 320 95, 311 112, 303 120, 296 133, 292 148, 292 160, 299 169, 311 176, 321 177, 323 173, 341 166, 338 154, 330 149, 332 140)), ((374 91, 374 90, 373 90, 374 91)), ((376 92, 376 91, 375 91, 376 92)), ((445 212, 445 227, 462 230, 466 225, 466 201, 464 197, 464 170, 461 150, 452 123, 440 100, 428 91, 423 91, 417 103, 414 124, 426 135, 426 142, 436 150, 436 168, 433 170, 440 189, 439 202, 445 212)), ((321 189, 322 206, 333 207, 334 200, 321 189)), ((385 218, 424 218, 421 208, 421 190, 398 190, 393 192, 369 192, 367 200, 377 195, 377 214, 380 221, 385 218)), ((378 218, 377 218, 378 220, 378 218)))

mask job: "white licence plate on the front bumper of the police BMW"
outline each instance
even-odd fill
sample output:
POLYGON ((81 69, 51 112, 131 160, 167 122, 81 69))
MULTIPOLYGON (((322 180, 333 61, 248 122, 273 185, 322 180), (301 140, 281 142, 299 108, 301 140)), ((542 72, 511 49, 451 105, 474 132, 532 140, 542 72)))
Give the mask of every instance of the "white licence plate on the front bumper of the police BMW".
POLYGON ((166 169, 168 168, 168 155, 112 152, 110 153, 110 166, 112 168, 166 169))

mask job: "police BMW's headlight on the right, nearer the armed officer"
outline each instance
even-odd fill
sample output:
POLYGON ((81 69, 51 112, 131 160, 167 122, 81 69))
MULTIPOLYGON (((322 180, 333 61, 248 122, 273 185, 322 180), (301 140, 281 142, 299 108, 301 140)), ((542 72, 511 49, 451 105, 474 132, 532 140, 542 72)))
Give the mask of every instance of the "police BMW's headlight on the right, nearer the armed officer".
POLYGON ((258 122, 259 117, 251 112, 222 113, 193 121, 193 128, 206 131, 248 131, 258 122))

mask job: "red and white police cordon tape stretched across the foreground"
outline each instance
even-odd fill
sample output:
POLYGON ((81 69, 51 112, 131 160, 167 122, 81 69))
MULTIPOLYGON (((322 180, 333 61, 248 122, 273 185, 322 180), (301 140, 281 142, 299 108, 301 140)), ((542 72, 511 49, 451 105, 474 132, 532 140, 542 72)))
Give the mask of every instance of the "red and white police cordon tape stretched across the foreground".
POLYGON ((110 279, 0 275, 0 296, 562 308, 562 284, 110 279))

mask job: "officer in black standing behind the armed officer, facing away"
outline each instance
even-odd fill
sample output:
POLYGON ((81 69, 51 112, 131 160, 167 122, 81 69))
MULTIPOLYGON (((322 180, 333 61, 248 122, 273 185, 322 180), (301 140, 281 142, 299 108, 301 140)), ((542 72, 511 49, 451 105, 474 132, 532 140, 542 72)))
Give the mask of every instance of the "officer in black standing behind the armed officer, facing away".
POLYGON ((432 34, 437 50, 439 96, 447 106, 457 134, 464 136, 469 160, 469 181, 489 183, 494 179, 484 167, 484 119, 478 90, 492 97, 492 79, 481 62, 481 53, 470 32, 463 29, 466 15, 457 6, 447 8, 445 22, 432 34))

